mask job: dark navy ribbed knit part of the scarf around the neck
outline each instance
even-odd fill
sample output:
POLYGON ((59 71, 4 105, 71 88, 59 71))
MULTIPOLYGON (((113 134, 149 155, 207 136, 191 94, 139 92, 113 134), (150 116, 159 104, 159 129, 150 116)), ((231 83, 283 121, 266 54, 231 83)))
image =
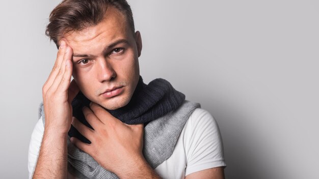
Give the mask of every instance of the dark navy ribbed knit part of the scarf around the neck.
MULTIPOLYGON (((155 79, 148 85, 143 83, 140 76, 136 90, 129 103, 116 110, 108 110, 113 116, 126 124, 142 124, 146 126, 148 122, 155 120, 177 109, 185 100, 185 95, 176 91, 173 86, 165 79, 155 79)), ((84 125, 93 129, 86 121, 82 108, 89 107, 90 100, 81 92, 72 101, 73 116, 84 125)), ((83 142, 90 141, 80 134, 73 126, 68 133, 70 137, 76 137, 83 142)))

